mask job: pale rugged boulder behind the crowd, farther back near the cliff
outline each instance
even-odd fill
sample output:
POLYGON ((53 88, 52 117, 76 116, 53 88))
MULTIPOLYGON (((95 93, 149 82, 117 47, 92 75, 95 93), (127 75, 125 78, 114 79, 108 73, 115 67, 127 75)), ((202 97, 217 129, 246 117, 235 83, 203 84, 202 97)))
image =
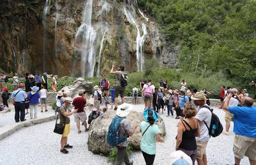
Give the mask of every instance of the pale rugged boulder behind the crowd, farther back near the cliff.
POLYGON ((79 77, 73 82, 72 85, 63 87, 61 90, 64 90, 65 93, 72 98, 78 96, 79 90, 84 90, 87 91, 87 96, 89 98, 89 96, 93 93, 93 83, 86 82, 84 78, 79 77))

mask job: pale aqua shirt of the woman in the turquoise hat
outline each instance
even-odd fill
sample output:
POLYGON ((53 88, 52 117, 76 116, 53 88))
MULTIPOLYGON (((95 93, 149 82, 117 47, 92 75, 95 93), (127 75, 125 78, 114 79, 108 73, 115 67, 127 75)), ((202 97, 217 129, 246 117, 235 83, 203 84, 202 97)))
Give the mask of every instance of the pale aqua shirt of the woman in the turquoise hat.
MULTIPOLYGON (((143 121, 140 124, 140 131, 143 133, 147 129, 148 122, 143 121)), ((140 142, 140 150, 147 154, 156 154, 156 137, 155 135, 160 133, 158 126, 153 124, 148 127, 148 130, 144 133, 142 140, 140 142)))

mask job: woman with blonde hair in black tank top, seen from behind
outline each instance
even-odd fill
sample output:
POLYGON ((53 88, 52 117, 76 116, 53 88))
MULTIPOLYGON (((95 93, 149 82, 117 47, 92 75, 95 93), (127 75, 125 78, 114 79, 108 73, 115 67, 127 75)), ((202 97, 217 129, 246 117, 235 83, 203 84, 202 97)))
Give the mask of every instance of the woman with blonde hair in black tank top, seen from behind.
POLYGON ((197 143, 195 137, 200 136, 200 125, 198 124, 195 115, 197 109, 192 103, 186 103, 183 113, 186 119, 179 121, 176 137, 176 150, 181 150, 186 153, 195 164, 197 156, 197 143))

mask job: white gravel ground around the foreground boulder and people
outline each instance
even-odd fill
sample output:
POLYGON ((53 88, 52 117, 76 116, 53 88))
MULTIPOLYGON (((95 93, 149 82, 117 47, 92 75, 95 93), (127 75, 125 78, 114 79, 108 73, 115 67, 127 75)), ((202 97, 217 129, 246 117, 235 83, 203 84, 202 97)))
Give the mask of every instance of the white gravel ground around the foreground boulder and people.
MULTIPOLYGON (((135 109, 142 111, 143 105, 135 106, 135 109)), ((224 125, 224 111, 215 108, 214 112, 224 125)), ((157 144, 155 164, 163 165, 168 163, 170 153, 175 150, 178 120, 166 117, 166 111, 160 116, 166 124, 166 137, 164 143, 157 144)), ((54 121, 51 121, 18 130, 1 140, 0 164, 111 164, 105 156, 88 151, 87 133, 77 134, 73 117, 70 121, 68 141, 74 148, 69 150, 69 154, 59 152, 61 136, 53 133, 54 121)), ((233 130, 233 124, 230 130, 233 130)), ((208 164, 234 164, 233 139, 233 133, 211 138, 207 146, 208 164)), ((134 164, 145 164, 139 151, 130 159, 134 164)), ((249 164, 248 158, 242 159, 241 164, 249 164)))

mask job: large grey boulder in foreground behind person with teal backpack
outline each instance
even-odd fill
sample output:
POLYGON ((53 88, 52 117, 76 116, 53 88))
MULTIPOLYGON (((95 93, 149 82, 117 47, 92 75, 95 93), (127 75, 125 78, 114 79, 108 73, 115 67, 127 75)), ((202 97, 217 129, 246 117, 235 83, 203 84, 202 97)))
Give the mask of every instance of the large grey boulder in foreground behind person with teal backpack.
MULTIPOLYGON (((108 155, 111 146, 106 142, 106 137, 108 133, 108 127, 111 124, 113 117, 116 115, 116 111, 108 110, 105 112, 103 117, 98 117, 95 119, 89 128, 88 133, 88 150, 92 151, 96 154, 105 154, 108 155)), ((127 119, 130 120, 132 127, 134 125, 139 125, 143 121, 142 112, 131 111, 127 115, 127 119)), ((165 125, 163 119, 159 117, 158 122, 156 122, 160 129, 161 135, 165 135, 165 125)), ((132 137, 127 138, 127 142, 131 145, 135 150, 140 150, 140 140, 142 138, 142 133, 140 133, 139 127, 135 130, 134 135, 132 137)))

